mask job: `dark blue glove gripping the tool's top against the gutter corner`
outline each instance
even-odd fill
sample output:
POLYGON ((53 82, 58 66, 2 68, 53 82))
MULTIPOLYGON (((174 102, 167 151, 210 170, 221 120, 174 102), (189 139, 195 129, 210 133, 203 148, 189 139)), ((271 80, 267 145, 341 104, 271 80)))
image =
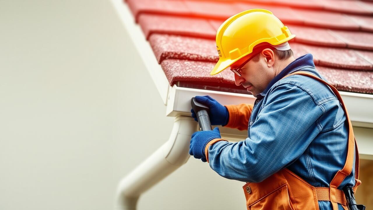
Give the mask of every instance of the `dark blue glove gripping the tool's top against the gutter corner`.
MULTIPOLYGON (((210 96, 195 96, 194 98, 197 102, 200 102, 201 104, 206 105, 210 108, 209 117, 211 125, 225 126, 226 124, 228 124, 229 112, 225 106, 219 104, 219 102, 217 102, 210 96)), ((194 117, 194 120, 197 121, 197 115, 195 114, 194 110, 191 109, 190 111, 192 112, 192 117, 194 117)))

